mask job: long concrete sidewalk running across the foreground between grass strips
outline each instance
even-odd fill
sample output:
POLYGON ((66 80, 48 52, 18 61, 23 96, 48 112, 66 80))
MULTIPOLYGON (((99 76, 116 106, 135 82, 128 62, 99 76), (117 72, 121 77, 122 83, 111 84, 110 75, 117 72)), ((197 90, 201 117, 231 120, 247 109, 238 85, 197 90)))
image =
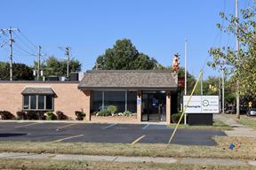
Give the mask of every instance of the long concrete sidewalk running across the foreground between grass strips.
POLYGON ((241 160, 228 158, 160 158, 160 157, 124 157, 124 156, 92 156, 70 154, 37 154, 37 153, 0 153, 2 158, 28 158, 28 159, 55 159, 55 160, 80 160, 80 161, 110 161, 110 162, 136 162, 136 163, 160 163, 160 164, 189 164, 211 166, 256 166, 255 160, 241 160))

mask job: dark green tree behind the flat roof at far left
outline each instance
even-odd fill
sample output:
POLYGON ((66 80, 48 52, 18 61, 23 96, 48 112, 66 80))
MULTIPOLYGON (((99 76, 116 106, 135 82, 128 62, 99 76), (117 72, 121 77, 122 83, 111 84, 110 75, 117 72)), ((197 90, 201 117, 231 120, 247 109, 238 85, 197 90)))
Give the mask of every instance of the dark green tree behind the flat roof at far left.
MULTIPOLYGON (((0 80, 10 80, 10 64, 0 62, 0 80)), ((12 64, 12 80, 13 81, 32 81, 34 80, 33 70, 29 66, 22 63, 12 64)))

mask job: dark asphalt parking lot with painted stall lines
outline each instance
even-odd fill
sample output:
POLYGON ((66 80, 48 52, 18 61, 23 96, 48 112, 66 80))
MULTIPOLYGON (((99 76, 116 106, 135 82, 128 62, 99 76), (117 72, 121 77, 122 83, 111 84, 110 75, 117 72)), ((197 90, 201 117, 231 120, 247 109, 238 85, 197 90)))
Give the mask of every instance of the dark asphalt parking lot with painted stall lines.
MULTIPOLYGON (((83 143, 168 143, 173 128, 156 124, 0 122, 0 141, 83 143)), ((215 145, 217 130, 178 129, 172 143, 215 145)))

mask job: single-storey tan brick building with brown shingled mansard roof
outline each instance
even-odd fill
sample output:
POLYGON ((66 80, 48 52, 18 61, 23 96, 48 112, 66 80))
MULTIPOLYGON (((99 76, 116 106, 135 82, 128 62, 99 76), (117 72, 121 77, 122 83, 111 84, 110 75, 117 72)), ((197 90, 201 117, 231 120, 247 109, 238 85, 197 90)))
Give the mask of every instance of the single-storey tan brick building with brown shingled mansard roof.
MULTIPOLYGON (((82 81, 0 81, 0 110, 61 111, 75 118, 116 105, 118 112, 137 113, 137 121, 171 122, 177 112, 178 77, 165 70, 98 70, 82 81)), ((108 119, 108 118, 104 118, 108 119)))

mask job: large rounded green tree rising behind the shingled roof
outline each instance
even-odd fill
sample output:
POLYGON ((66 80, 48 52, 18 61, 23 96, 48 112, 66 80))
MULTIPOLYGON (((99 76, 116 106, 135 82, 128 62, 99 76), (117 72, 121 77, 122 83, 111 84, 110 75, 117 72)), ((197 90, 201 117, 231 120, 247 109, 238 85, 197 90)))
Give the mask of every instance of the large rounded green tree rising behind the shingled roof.
POLYGON ((93 69, 100 70, 149 70, 157 67, 155 58, 140 53, 132 44, 131 40, 117 40, 112 49, 105 50, 105 53, 96 60, 93 69))

